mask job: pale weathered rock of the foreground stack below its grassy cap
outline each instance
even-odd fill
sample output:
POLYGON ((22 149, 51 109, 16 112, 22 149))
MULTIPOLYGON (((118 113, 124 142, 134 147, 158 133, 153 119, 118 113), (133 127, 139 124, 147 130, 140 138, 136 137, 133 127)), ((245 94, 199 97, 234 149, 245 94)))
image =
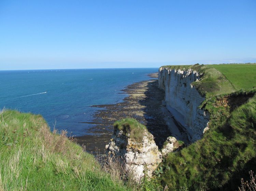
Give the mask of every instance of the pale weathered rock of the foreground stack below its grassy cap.
POLYGON ((115 130, 106 149, 110 155, 123 158, 126 170, 131 171, 136 180, 140 180, 145 173, 151 177, 161 162, 161 153, 152 134, 145 134, 142 141, 138 142, 123 135, 122 131, 115 130))

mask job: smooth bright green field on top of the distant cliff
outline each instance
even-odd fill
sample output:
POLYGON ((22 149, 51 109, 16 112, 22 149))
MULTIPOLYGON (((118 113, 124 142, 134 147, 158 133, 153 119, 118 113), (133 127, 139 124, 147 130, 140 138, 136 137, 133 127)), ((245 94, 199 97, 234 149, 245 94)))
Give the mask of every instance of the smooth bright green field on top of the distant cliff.
POLYGON ((256 64, 209 65, 220 71, 237 90, 256 87, 256 64))

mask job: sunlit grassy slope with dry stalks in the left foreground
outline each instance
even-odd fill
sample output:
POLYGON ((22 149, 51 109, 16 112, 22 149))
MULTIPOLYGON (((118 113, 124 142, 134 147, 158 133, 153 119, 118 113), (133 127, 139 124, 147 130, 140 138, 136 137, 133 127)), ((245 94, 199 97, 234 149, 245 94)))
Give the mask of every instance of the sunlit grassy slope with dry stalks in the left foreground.
POLYGON ((0 190, 127 190, 39 115, 0 112, 0 190))

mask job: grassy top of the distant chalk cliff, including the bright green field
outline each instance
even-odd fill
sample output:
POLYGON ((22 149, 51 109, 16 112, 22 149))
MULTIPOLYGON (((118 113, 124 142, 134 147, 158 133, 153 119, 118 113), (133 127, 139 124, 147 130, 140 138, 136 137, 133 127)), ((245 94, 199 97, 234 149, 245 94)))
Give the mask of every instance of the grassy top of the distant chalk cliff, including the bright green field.
POLYGON ((201 78, 192 83, 199 93, 210 98, 215 95, 232 93, 240 89, 256 87, 256 64, 221 64, 221 65, 180 65, 162 66, 161 68, 200 72, 201 78))

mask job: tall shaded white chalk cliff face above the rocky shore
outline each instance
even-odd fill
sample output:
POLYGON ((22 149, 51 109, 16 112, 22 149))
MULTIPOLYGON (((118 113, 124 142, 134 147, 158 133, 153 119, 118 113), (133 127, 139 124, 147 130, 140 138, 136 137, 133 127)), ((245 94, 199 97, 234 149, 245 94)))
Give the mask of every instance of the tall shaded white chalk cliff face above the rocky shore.
POLYGON ((209 122, 209 114, 198 108, 205 98, 191 85, 199 80, 200 75, 192 69, 183 71, 161 67, 158 71, 159 87, 165 90, 166 107, 175 120, 187 128, 191 142, 202 137, 209 122))

